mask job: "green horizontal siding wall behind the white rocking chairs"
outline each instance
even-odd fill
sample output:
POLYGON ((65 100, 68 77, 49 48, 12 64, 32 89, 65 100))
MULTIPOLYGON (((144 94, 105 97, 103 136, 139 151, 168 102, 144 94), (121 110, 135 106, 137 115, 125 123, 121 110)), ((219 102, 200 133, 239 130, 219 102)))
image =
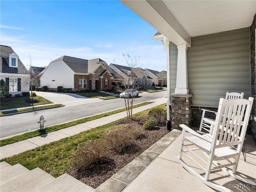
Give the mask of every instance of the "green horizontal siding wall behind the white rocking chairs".
POLYGON ((193 37, 191 41, 188 89, 194 94, 194 106, 218 106, 226 91, 250 96, 249 28, 193 37))

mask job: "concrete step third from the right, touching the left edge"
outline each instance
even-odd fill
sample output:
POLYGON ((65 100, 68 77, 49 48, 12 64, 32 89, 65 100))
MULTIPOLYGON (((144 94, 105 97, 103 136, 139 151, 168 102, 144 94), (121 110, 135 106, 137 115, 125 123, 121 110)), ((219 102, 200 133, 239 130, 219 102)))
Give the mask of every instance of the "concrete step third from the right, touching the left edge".
POLYGON ((5 168, 3 170, 1 168, 0 185, 2 186, 8 180, 12 180, 26 172, 29 172, 29 170, 19 163, 14 166, 8 166, 7 168, 5 168))

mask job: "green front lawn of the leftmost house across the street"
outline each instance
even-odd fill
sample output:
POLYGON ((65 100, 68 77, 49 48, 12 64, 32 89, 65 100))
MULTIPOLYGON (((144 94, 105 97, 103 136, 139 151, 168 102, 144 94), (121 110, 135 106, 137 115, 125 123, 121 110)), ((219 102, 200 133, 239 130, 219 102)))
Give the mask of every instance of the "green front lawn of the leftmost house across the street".
MULTIPOLYGON (((10 101, 10 102, 1 102, 1 106, 0 106, 0 110, 4 110, 4 109, 12 109, 12 108, 20 108, 20 107, 30 107, 32 106, 32 104, 27 103, 26 100, 28 100, 30 97, 18 97, 15 98, 14 100, 10 101)), ((52 102, 50 102, 49 100, 41 97, 41 96, 36 96, 33 97, 33 99, 37 99, 40 102, 38 103, 34 103, 35 105, 43 105, 43 104, 50 104, 52 102)))

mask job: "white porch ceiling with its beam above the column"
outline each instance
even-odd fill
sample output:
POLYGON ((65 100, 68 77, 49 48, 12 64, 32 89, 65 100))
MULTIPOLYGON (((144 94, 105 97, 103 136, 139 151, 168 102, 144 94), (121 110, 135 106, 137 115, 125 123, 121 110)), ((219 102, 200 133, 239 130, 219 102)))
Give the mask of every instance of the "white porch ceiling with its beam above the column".
POLYGON ((191 37, 249 27, 256 0, 120 0, 168 40, 191 46, 191 37))

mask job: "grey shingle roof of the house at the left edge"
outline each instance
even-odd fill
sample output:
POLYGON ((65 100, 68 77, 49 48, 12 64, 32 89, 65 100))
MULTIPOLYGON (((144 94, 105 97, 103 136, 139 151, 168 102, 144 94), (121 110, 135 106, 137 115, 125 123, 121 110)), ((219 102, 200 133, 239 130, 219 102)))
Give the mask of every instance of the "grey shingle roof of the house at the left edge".
POLYGON ((3 58, 12 54, 14 50, 10 46, 0 45, 0 72, 1 73, 13 73, 13 74, 29 74, 28 70, 18 58, 18 68, 9 67, 9 64, 3 58))

